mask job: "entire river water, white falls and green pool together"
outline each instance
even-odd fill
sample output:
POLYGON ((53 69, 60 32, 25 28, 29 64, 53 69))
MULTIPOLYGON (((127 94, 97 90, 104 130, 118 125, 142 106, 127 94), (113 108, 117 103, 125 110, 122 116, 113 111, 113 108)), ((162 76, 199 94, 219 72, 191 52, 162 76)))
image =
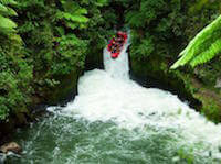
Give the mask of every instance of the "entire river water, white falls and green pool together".
POLYGON ((126 47, 104 50, 105 70, 86 72, 66 107, 18 130, 14 164, 220 164, 221 125, 176 95, 129 79, 126 47))

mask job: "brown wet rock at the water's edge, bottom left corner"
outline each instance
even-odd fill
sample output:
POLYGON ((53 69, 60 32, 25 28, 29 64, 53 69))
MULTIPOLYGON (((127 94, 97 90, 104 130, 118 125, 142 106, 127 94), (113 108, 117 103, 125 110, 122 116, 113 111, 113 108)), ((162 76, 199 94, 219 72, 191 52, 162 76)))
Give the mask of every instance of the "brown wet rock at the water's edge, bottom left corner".
POLYGON ((13 152, 20 154, 22 152, 21 146, 15 142, 6 143, 0 147, 0 152, 7 154, 8 152, 13 152))

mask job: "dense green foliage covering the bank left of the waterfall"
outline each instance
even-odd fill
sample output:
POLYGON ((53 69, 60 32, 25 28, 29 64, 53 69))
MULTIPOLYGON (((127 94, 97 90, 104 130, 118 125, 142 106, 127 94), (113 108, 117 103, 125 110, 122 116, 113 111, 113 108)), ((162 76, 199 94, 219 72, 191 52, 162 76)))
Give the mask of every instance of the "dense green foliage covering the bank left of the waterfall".
POLYGON ((116 23, 107 6, 107 0, 0 0, 0 120, 28 108, 32 98, 50 99, 62 77, 77 77, 71 74, 84 69, 86 54, 104 47, 116 23), (110 15, 107 23, 103 12, 110 15))

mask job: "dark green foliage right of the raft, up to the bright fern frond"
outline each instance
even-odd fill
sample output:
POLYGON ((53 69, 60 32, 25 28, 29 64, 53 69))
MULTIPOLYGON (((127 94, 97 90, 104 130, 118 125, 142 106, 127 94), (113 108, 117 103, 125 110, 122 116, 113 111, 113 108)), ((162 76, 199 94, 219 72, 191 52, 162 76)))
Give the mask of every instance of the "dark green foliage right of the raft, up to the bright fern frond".
POLYGON ((218 15, 221 4, 206 0, 117 1, 125 7, 125 23, 131 30, 130 55, 139 59, 157 55, 170 61, 218 15))

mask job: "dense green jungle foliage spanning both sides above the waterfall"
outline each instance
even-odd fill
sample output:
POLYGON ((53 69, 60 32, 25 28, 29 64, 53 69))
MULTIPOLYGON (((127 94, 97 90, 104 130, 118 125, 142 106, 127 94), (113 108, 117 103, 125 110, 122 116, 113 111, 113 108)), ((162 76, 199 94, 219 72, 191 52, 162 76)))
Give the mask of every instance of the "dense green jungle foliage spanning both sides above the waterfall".
MULTIPOLYGON (((219 17, 220 4, 214 0, 0 0, 0 120, 50 103, 52 90, 70 75, 78 76, 90 54, 101 56, 117 30, 130 30, 131 58, 167 58, 171 65, 187 43, 219 17)), ((219 63, 220 57, 207 68, 220 74, 219 63)))

